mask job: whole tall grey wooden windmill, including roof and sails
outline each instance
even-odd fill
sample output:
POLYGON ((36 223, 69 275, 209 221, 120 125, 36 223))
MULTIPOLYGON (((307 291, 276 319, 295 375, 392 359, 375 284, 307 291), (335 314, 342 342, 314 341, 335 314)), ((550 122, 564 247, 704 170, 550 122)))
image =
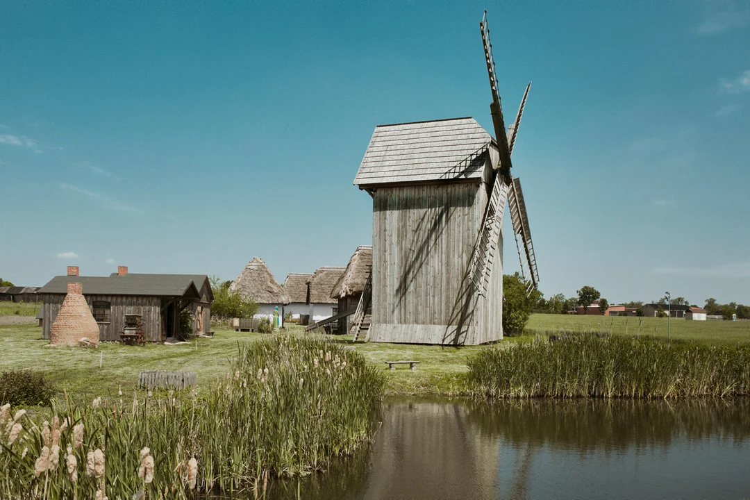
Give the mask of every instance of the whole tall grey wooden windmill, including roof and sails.
POLYGON ((369 340, 469 345, 502 339, 506 202, 519 256, 522 247, 526 256, 527 291, 538 283, 520 183, 510 174, 529 88, 506 132, 486 13, 481 31, 497 140, 470 117, 380 125, 354 179, 373 197, 369 340))

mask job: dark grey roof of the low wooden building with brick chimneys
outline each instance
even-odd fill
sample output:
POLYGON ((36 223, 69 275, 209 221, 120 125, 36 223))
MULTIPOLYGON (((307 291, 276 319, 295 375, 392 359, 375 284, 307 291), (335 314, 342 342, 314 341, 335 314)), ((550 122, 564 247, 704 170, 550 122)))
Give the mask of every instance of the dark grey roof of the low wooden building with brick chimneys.
MULTIPOLYGON (((83 284, 84 295, 157 295, 160 297, 199 298, 193 274, 136 274, 117 276, 55 276, 42 286, 39 294, 68 293, 68 283, 83 284)), ((198 275, 205 278, 204 275, 198 275)), ((202 285, 202 282, 200 282, 202 285)))

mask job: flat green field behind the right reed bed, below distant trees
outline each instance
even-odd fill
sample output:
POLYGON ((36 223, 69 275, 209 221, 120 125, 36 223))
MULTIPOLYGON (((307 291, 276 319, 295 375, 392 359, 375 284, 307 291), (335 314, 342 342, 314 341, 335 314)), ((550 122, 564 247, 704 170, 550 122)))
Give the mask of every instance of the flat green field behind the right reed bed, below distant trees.
MULTIPOLYGON (((526 330, 540 334, 560 330, 594 330, 616 335, 651 335, 667 338, 667 319, 532 314, 526 324, 526 330)), ((701 343, 750 342, 750 321, 685 321, 685 319, 672 318, 670 319, 670 337, 673 340, 691 340, 701 343)))

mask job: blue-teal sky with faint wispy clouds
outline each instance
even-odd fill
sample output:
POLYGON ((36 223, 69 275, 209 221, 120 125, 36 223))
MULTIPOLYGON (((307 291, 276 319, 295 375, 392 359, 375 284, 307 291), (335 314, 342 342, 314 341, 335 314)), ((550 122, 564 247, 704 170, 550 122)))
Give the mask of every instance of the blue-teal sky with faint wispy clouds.
POLYGON ((0 0, 0 276, 346 265, 377 124, 492 130, 486 8, 541 292, 750 304, 750 4, 652 3, 0 0))

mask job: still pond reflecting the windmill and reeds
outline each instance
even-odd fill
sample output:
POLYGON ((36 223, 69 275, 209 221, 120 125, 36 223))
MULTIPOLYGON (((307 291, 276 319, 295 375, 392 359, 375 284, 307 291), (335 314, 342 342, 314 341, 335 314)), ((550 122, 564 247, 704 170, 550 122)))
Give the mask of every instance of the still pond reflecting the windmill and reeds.
MULTIPOLYGON (((282 499, 750 496, 750 402, 389 400, 368 448, 282 499)), ((252 498, 252 497, 250 497, 252 498)))

